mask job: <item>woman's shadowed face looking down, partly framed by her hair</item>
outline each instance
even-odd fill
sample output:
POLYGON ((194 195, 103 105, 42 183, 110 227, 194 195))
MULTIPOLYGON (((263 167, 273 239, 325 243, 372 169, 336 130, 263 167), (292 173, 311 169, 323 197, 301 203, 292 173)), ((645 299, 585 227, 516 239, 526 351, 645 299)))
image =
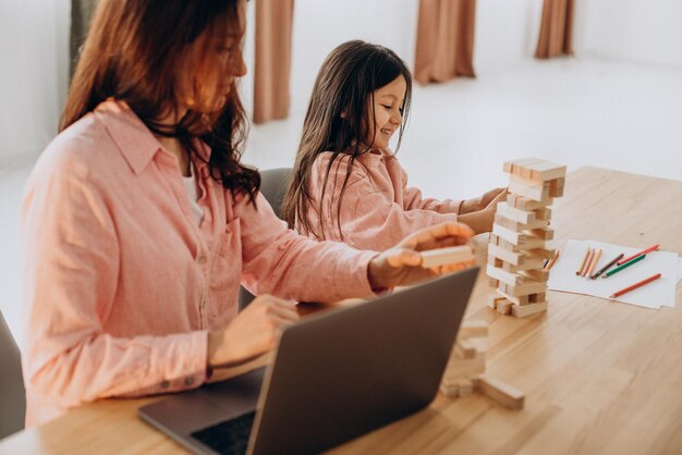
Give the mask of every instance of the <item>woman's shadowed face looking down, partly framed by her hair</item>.
POLYGON ((246 74, 243 38, 246 2, 238 2, 238 21, 226 19, 220 30, 207 30, 187 51, 180 69, 180 93, 184 108, 196 112, 220 111, 234 88, 234 81, 246 74))

